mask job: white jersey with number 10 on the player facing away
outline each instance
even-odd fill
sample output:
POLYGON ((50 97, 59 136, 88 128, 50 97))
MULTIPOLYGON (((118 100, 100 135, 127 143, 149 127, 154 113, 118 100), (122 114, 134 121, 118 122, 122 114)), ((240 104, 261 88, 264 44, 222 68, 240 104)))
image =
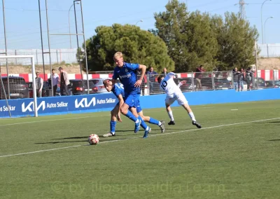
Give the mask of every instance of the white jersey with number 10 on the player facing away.
POLYGON ((182 92, 178 85, 174 82, 174 76, 175 74, 173 72, 170 72, 167 74, 167 76, 162 79, 160 82, 160 89, 165 91, 167 95, 172 95, 174 93, 180 93, 182 92))

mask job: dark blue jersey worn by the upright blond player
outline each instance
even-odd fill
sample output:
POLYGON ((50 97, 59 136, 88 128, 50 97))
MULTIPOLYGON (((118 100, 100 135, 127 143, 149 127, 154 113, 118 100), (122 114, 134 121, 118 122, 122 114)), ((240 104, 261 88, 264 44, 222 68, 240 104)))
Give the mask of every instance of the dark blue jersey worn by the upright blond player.
POLYGON ((137 70, 139 69, 139 64, 123 63, 123 67, 115 67, 113 72, 113 79, 120 79, 123 83, 125 92, 127 94, 137 94, 140 93, 139 87, 134 87, 134 83, 137 82, 137 70))

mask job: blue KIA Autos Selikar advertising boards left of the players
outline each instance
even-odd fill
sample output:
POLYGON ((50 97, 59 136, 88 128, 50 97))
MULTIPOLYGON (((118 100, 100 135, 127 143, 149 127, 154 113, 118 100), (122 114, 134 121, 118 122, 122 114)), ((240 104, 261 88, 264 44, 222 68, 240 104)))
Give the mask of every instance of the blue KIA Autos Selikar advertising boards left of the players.
MULTIPOLYGON (((72 95, 62 97, 37 98, 38 116, 109 111, 118 99, 113 93, 97 95, 72 95)), ((34 116, 33 98, 9 99, 10 113, 13 117, 34 116)), ((6 100, 0 100, 0 118, 9 117, 6 100)))

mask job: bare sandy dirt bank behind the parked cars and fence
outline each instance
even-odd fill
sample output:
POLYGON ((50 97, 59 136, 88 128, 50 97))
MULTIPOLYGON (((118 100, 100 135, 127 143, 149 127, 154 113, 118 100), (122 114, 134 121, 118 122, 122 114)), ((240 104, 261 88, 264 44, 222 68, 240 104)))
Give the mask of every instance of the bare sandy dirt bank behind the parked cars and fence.
MULTIPOLYGON (((66 64, 66 65, 58 65, 54 64, 52 69, 55 69, 58 72, 58 68, 63 67, 65 71, 69 74, 80 74, 80 66, 75 64, 66 64)), ((258 59, 258 69, 280 69, 280 58, 260 58, 258 59)), ((36 66, 36 71, 39 73, 43 73, 43 66, 36 66)), ((6 74, 6 66, 1 66, 1 73, 6 74)), ((31 67, 25 66, 8 66, 9 74, 30 74, 31 67)), ((50 66, 45 65, 45 73, 50 73, 50 66)), ((85 72, 83 71, 83 74, 85 72)))

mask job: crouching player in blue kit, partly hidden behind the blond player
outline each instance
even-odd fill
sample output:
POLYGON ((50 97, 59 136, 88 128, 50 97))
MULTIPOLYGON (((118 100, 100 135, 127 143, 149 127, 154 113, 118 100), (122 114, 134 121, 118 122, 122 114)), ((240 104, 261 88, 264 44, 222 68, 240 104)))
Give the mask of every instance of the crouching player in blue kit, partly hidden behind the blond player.
MULTIPOLYGON (((123 88, 123 84, 121 83, 115 83, 115 85, 112 85, 112 81, 109 79, 106 79, 103 81, 103 84, 108 92, 113 92, 116 97, 118 97, 118 104, 113 108, 111 111, 111 121, 110 121, 110 132, 106 133, 103 135, 103 137, 111 137, 116 135, 116 123, 117 120, 122 122, 120 118, 120 107, 124 103, 124 97, 125 97, 125 90, 123 88)), ((136 108, 135 107, 130 107, 130 111, 132 111, 132 114, 134 116, 141 116, 142 120, 158 125, 161 129, 162 132, 165 132, 165 122, 164 121, 157 121, 154 118, 151 118, 149 116, 144 116, 143 111, 140 106, 140 102, 136 103, 136 108)), ((141 123, 142 125, 142 123, 141 123)), ((142 126, 143 127, 143 126, 142 126)))

